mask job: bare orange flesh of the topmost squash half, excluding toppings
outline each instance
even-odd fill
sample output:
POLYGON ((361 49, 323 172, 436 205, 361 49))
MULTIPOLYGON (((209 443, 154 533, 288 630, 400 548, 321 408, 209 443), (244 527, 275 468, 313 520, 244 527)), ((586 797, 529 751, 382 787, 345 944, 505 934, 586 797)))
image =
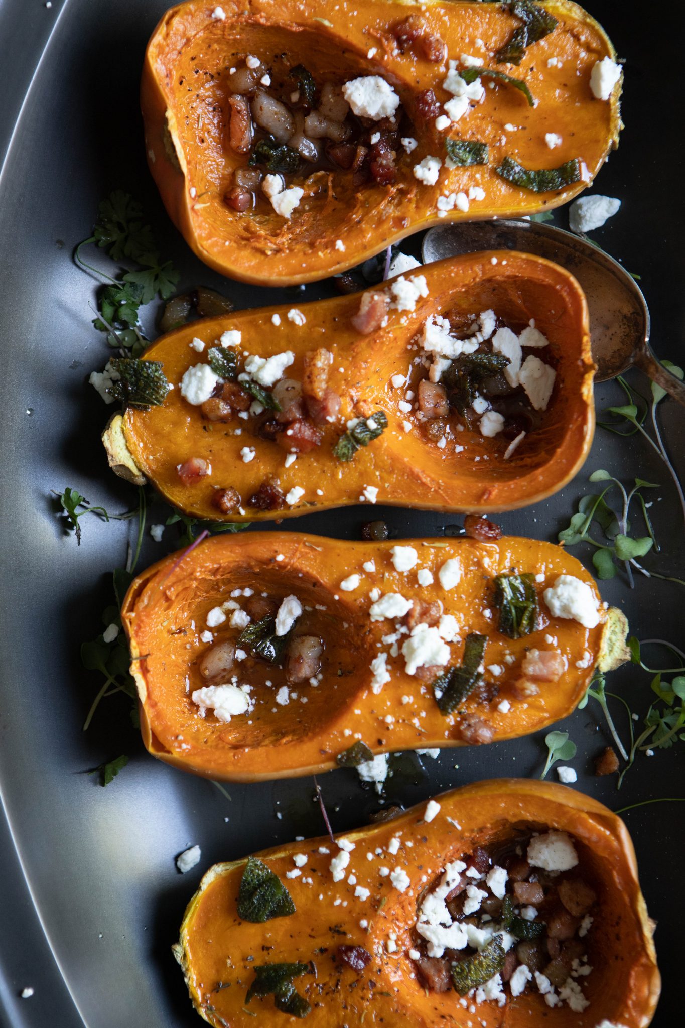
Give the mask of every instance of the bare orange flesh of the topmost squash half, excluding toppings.
MULTIPOLYGON (((448 133, 488 143, 490 168, 443 172, 434 186, 419 183, 413 166, 427 155, 444 157, 445 134, 436 132, 431 121, 417 127, 419 145, 410 155, 402 153, 399 175, 391 186, 374 184, 354 190, 351 184, 343 184, 343 173, 337 177, 335 194, 327 188, 325 200, 305 196, 290 221, 273 212, 237 215, 222 199, 238 161, 225 143, 225 97, 219 81, 219 73, 235 60, 234 54, 252 52, 268 64, 274 54, 287 52, 291 65, 303 63, 315 76, 333 72, 341 80, 381 74, 394 83, 411 114, 418 93, 442 83, 446 65, 416 60, 411 51, 399 53, 389 34, 392 26, 408 14, 421 13, 455 59, 466 40, 472 47, 477 38, 494 51, 521 22, 499 5, 464 0, 427 4, 370 0, 363 13, 352 0, 307 0, 306 4, 255 0, 249 11, 238 0, 227 0, 222 5, 224 21, 212 19, 215 7, 214 0, 190 0, 162 16, 146 52, 141 106, 148 163, 169 217, 200 260, 230 278, 284 286, 345 270, 391 243, 440 223, 439 195, 468 192, 472 185, 485 188, 485 200, 472 203, 467 212, 449 212, 449 220, 522 217, 558 207, 581 192, 587 182, 535 194, 504 182, 493 168, 505 155, 528 168, 556 168, 581 157, 592 181, 617 145, 620 84, 609 102, 595 100, 588 84, 595 62, 606 56, 615 58, 613 46, 581 7, 569 0, 553 0, 545 7, 560 26, 530 47, 520 68, 486 61, 525 78, 539 108, 529 108, 517 89, 488 89, 486 102, 448 133), (378 52, 369 59, 367 53, 374 46, 378 52), (547 68, 550 57, 561 58, 563 66, 547 68), (211 70, 217 79, 198 75, 203 81, 193 93, 192 71, 197 67, 211 70), (511 133, 502 143, 504 126, 510 122, 526 131, 511 133), (554 151, 544 141, 550 132, 564 139, 554 151), (337 240, 343 240, 344 253, 336 250, 337 240)), ((448 99, 442 87, 436 94, 443 101, 448 99)), ((311 193, 317 179, 309 182, 311 193)))

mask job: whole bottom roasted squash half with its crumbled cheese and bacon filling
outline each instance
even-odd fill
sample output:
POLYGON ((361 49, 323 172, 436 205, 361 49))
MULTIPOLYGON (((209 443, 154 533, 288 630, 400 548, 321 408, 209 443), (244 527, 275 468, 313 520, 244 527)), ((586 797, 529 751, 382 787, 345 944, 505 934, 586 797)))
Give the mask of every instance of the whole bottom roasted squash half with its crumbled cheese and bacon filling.
POLYGON ((216 1028, 645 1028, 653 929, 615 814, 501 778, 216 865, 174 949, 216 1028))

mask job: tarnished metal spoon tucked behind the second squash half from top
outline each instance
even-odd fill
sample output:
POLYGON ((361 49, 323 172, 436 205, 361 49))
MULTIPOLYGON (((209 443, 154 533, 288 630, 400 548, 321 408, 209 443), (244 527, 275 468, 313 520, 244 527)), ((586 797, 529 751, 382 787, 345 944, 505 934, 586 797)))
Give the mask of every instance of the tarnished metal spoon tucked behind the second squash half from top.
POLYGON ((595 378, 606 381, 638 367, 685 405, 685 383, 660 364, 649 345, 649 310, 621 265, 578 235, 538 221, 477 221, 426 232, 428 264, 479 250, 521 250, 546 257, 576 277, 587 297, 595 378))

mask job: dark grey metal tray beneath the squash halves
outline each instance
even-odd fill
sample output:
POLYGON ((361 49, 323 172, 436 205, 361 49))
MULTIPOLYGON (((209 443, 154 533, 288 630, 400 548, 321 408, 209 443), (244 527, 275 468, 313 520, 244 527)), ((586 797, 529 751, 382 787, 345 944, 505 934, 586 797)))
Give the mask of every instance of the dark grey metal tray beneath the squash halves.
MULTIPOLYGON (((622 208, 596 237, 642 276, 654 346, 682 362, 682 146, 674 125, 685 14, 672 5, 664 22, 642 8, 639 16, 626 16, 619 0, 587 5, 627 58, 627 128, 595 187, 619 196, 622 208)), ((106 347, 90 326, 94 284, 71 262, 71 248, 89 233, 99 200, 125 188, 143 201, 162 253, 182 268, 182 285, 220 287, 238 306, 332 293, 327 282, 281 292, 226 283, 192 257, 165 218, 145 167, 138 109, 144 46, 165 6, 165 0, 0 2, 0 152, 8 149, 0 178, 0 790, 7 817, 0 824, 0 1022, 12 1028, 197 1025, 169 946, 200 871, 215 860, 322 831, 311 779, 233 785, 228 800, 211 782, 145 755, 126 706, 117 700, 101 708, 88 733, 81 732, 97 683, 81 668, 78 648, 101 630, 108 573, 123 562, 130 526, 89 518, 77 549, 53 516, 49 490, 72 485, 111 510, 127 509, 131 493, 108 472, 100 445, 106 413, 85 381, 104 364, 106 347), (123 750, 131 762, 108 788, 84 773, 123 750), (174 857, 194 843, 202 848, 201 865, 181 877, 174 857), (21 999, 27 986, 35 993, 21 999)), ((566 224, 564 212, 558 222, 566 224)), ((404 249, 416 253, 418 247, 415 237, 404 249)), ((645 387, 644 379, 635 381, 645 387)), ((598 389, 600 409, 621 399, 615 383, 598 389)), ((664 401, 661 416, 673 457, 685 473, 683 412, 664 401)), ((662 501, 652 509, 662 550, 651 566, 682 576, 684 526, 676 493, 639 437, 618 439, 599 429, 578 481, 544 504, 502 517, 506 530, 556 538, 586 475, 600 467, 662 484, 662 501)), ((458 521, 381 508, 374 514, 386 517, 401 537, 440 535, 446 523, 458 521)), ((356 538, 367 517, 367 510, 356 508, 303 517, 286 527, 356 538)), ((162 547, 174 547, 172 529, 162 547)), ((148 539, 144 561, 161 552, 148 539)), ((641 579, 631 592, 617 578, 604 583, 603 594, 626 610, 639 636, 679 640, 682 586, 641 579)), ((612 677, 612 687, 646 712, 648 675, 629 666, 612 677)), ((621 721, 620 708, 616 717, 621 721)), ((683 793, 680 745, 651 760, 641 757, 618 794, 614 779, 595 778, 592 756, 607 742, 600 719, 591 703, 561 726, 578 744, 573 764, 579 788, 613 808, 683 793)), ((439 760, 424 761, 423 769, 408 755, 390 780, 388 798, 410 804, 481 777, 539 774, 543 751, 537 736, 444 750, 439 760)), ((328 774, 321 784, 337 830, 364 823, 378 807, 352 772, 328 774)), ((654 1024, 672 1028, 682 1017, 685 911, 677 873, 683 819, 677 804, 638 807, 625 816, 658 921, 664 990, 654 1024)))

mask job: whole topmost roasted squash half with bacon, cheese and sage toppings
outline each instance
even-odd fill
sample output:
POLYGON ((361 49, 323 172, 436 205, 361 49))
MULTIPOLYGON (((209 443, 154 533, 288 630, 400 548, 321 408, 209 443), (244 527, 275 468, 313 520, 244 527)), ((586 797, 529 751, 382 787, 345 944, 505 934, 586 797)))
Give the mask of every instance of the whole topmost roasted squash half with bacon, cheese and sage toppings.
POLYGON ((311 282, 441 218, 567 203, 617 143, 614 57, 567 0, 190 0, 145 58, 150 171, 211 267, 311 282))

